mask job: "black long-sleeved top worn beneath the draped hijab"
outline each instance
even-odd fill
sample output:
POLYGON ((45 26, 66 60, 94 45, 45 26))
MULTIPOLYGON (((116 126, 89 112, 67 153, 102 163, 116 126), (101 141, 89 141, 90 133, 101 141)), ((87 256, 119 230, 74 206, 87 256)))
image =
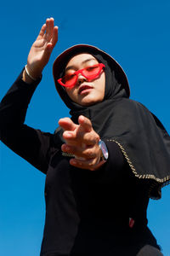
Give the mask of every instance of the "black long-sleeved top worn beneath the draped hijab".
POLYGON ((148 185, 133 175, 116 143, 105 140, 109 160, 91 172, 70 166, 56 144, 58 133, 24 125, 36 86, 19 77, 8 90, 0 105, 0 134, 3 143, 47 174, 41 256, 135 256, 144 245, 159 248, 147 227, 148 185))

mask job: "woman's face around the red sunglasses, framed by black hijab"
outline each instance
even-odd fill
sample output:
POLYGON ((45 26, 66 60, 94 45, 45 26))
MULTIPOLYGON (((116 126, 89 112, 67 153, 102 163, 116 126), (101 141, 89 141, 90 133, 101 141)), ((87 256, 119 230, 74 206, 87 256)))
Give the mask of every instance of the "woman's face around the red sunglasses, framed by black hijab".
MULTIPOLYGON (((75 55, 67 63, 65 74, 71 74, 75 71, 94 66, 98 64, 93 55, 82 53, 75 55)), ((78 74, 77 84, 73 88, 65 87, 65 90, 73 102, 82 106, 90 106, 97 102, 102 102, 105 96, 105 72, 101 71, 99 77, 88 81, 81 73, 78 74)))

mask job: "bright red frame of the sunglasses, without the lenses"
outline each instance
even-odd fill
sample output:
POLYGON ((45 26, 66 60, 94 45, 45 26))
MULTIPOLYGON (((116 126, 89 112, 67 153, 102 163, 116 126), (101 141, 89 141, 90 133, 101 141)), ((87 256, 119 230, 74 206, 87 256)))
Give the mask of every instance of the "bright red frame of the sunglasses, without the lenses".
MULTIPOLYGON (((86 79, 88 79, 88 81, 91 81, 91 80, 97 78, 97 76, 99 76, 99 73, 101 73, 102 68, 105 67, 105 65, 104 65, 103 63, 95 64, 95 65, 89 66, 89 67, 94 67, 94 66, 97 66, 97 65, 99 65, 99 72, 96 73, 94 76, 90 77, 90 79, 89 79, 85 74, 83 74, 84 69, 87 69, 88 67, 84 67, 84 68, 82 68, 82 69, 79 69, 79 70, 75 71, 75 72, 72 73, 72 74, 76 74, 77 79, 78 79, 78 74, 81 73, 83 77, 85 77, 86 79)), ((65 85, 65 84, 63 84, 62 81, 61 81, 62 79, 63 79, 63 78, 57 80, 58 83, 59 83, 60 85, 62 85, 62 86, 70 87, 70 88, 71 88, 71 87, 74 87, 75 84, 77 84, 77 79, 76 79, 75 83, 74 83, 74 84, 71 84, 71 85, 65 85)))

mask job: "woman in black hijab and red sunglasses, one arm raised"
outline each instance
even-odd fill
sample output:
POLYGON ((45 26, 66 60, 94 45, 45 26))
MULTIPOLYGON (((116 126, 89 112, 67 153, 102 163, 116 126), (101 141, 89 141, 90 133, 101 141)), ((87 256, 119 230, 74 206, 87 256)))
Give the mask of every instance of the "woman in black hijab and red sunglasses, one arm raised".
POLYGON ((146 211, 170 180, 170 137, 129 99, 126 74, 111 55, 88 44, 66 49, 53 73, 71 118, 59 119, 54 134, 25 124, 57 40, 47 19, 0 105, 3 143, 46 174, 40 255, 162 255, 146 211))

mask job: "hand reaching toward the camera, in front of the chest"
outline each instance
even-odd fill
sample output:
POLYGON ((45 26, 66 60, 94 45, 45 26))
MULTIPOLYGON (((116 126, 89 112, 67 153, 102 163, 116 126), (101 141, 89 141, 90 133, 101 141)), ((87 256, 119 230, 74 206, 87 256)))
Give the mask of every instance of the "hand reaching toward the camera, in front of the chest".
POLYGON ((99 135, 88 118, 81 115, 78 123, 79 125, 76 125, 69 118, 59 119, 65 139, 61 149, 75 155, 75 158, 70 160, 72 166, 90 171, 97 170, 105 163, 105 160, 100 161, 99 135))

